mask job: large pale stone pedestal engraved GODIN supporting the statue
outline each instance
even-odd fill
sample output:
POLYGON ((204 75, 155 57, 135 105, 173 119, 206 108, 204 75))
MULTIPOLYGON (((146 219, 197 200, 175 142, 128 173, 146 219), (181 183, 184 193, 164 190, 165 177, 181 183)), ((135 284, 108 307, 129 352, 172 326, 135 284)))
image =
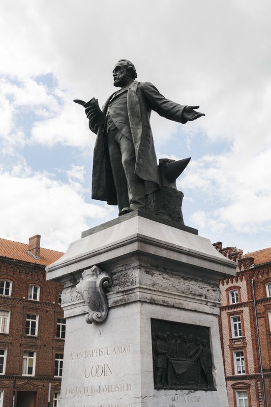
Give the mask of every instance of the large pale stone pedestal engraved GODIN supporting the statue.
POLYGON ((195 229, 145 213, 83 232, 47 267, 65 286, 61 407, 228 407, 218 284, 235 267, 195 229), (112 285, 106 319, 87 324, 76 284, 94 265, 112 285))

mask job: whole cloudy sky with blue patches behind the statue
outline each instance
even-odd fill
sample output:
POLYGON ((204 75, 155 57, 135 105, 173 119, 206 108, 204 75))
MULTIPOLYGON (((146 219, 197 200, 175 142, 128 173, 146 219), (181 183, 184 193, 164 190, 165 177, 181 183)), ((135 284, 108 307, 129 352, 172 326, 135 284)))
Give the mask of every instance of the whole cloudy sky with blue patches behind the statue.
POLYGON ((270 17, 269 0, 2 0, 0 237, 65 251, 117 216, 91 199, 95 135, 72 101, 102 105, 125 58, 206 114, 152 115, 158 158, 192 157, 185 223, 244 253, 271 246, 270 17))

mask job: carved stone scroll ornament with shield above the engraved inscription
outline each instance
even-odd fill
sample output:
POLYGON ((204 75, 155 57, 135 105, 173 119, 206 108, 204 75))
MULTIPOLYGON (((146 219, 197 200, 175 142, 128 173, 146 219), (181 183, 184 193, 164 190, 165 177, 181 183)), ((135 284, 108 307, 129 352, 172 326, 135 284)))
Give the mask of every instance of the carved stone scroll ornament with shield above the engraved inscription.
POLYGON ((93 266, 83 271, 76 288, 89 308, 88 315, 85 317, 87 324, 102 322, 107 317, 108 304, 104 288, 111 285, 111 277, 102 272, 99 267, 93 266))

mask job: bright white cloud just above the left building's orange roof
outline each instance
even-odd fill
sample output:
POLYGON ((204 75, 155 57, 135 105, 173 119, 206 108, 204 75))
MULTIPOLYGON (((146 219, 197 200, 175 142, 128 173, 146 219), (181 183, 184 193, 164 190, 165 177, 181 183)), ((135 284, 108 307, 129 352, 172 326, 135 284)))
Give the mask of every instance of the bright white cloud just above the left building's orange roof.
POLYGON ((81 231, 105 220, 112 211, 106 205, 84 201, 73 184, 52 180, 48 174, 20 177, 0 173, 1 237, 26 242, 42 235, 42 245, 65 251, 80 239, 81 231))

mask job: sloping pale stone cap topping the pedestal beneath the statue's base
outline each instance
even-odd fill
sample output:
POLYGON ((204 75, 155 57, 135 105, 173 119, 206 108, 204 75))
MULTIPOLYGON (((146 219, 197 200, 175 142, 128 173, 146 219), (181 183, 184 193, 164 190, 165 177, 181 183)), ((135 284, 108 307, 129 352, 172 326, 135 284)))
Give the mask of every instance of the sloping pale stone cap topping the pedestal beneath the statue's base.
POLYGON ((192 268, 194 275, 204 274, 207 279, 214 272, 215 282, 235 274, 234 263, 209 239, 175 227, 173 222, 167 225, 139 214, 71 243, 64 256, 47 267, 47 278, 78 280, 86 268, 99 264, 107 268, 116 259, 130 259, 133 253, 177 272, 188 273, 192 268))

